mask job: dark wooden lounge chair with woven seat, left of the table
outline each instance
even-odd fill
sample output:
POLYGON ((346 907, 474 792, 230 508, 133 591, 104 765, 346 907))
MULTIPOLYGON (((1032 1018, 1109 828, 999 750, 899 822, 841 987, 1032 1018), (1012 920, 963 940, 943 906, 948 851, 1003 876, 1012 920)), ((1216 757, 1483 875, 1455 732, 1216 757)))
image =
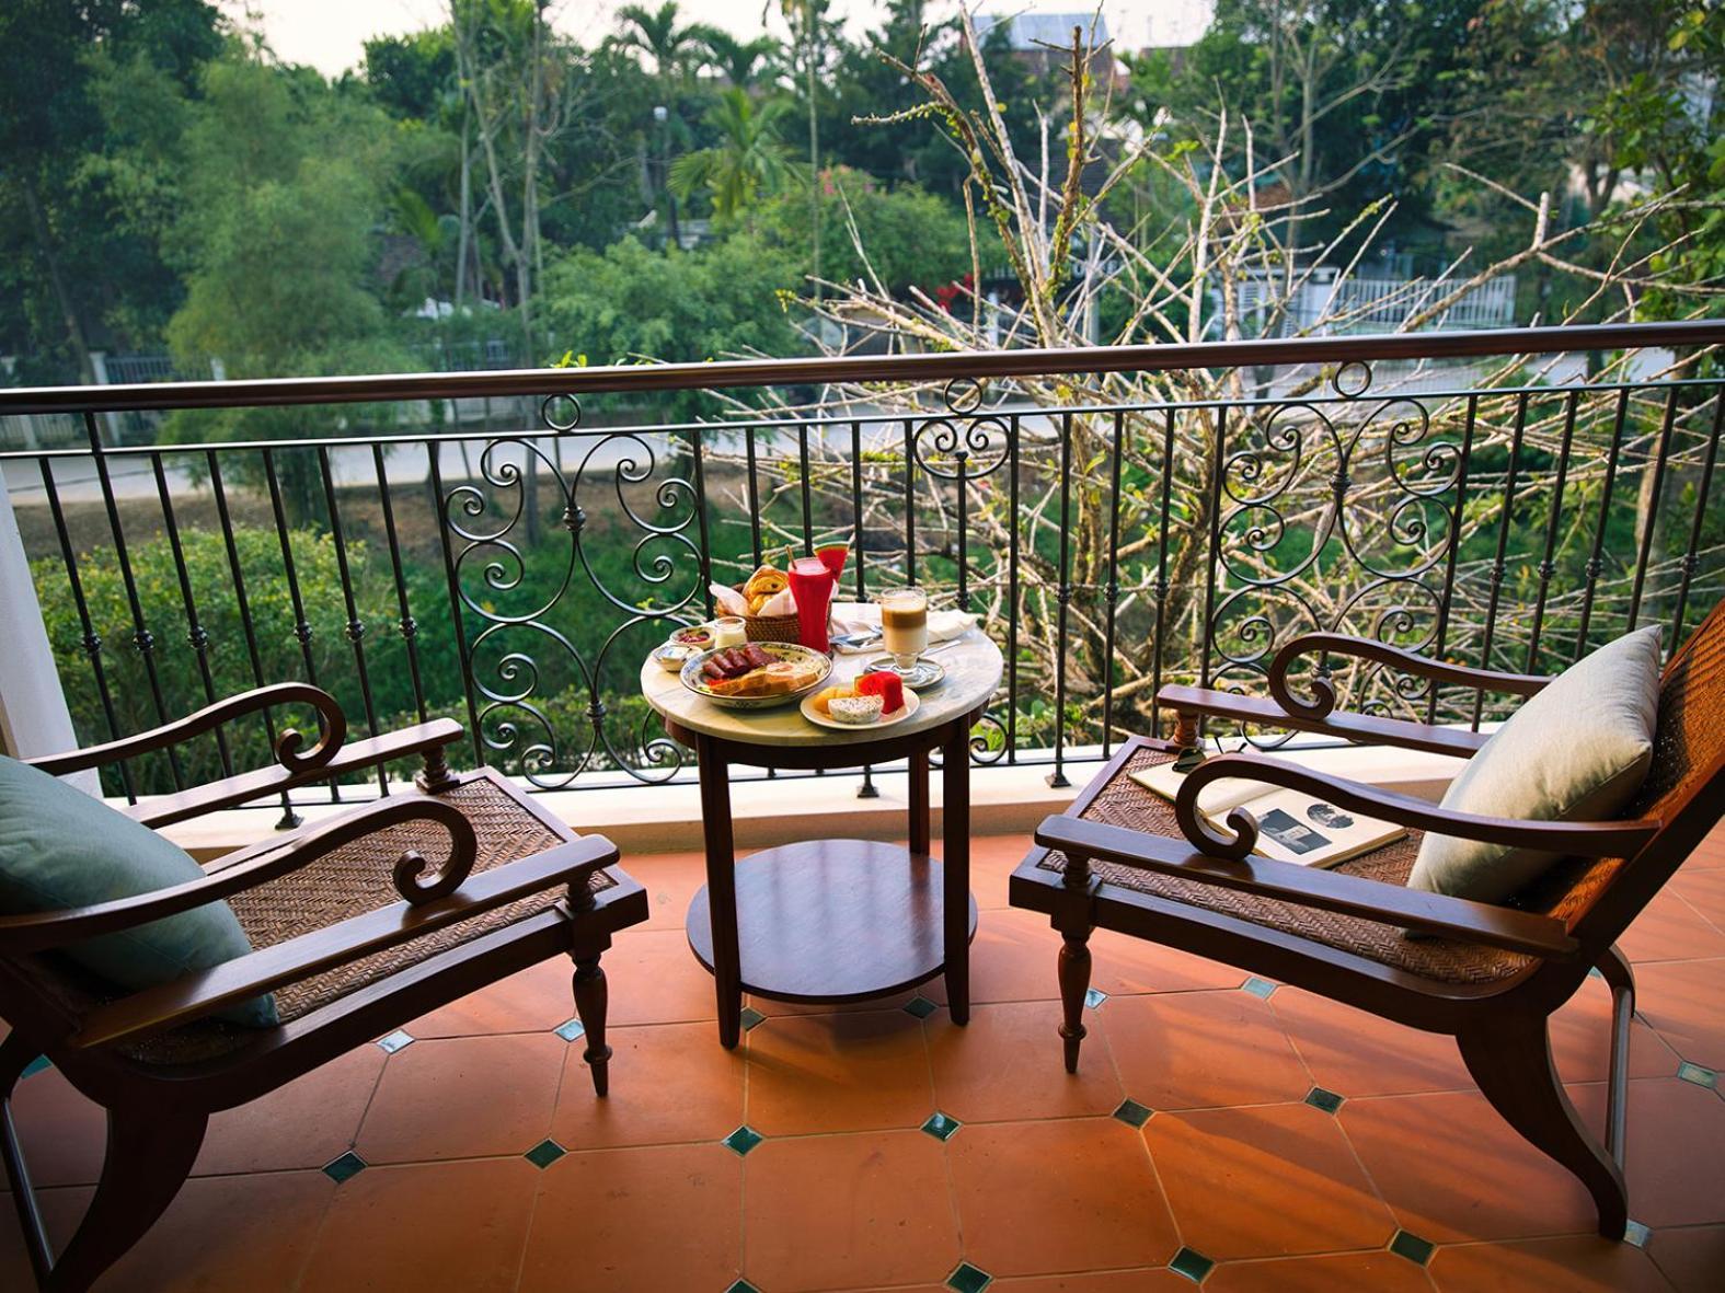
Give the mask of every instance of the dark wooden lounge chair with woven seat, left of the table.
MULTIPOLYGON (((31 760, 55 776, 166 750, 269 705, 312 705, 310 750, 283 733, 276 765, 140 803, 148 826, 417 755, 417 788, 231 853, 204 879, 76 910, 0 917, 0 1152, 41 1290, 86 1290, 167 1209, 209 1115, 247 1103, 354 1046, 547 957, 574 960, 574 1010, 605 1095, 611 934, 647 919, 647 895, 604 836, 576 838, 490 769, 455 776, 447 719, 343 745, 336 702, 267 686, 112 745, 31 760), (224 898, 254 952, 119 996, 55 948, 224 898), (212 1010, 273 991, 281 1022, 242 1028, 212 1010), (59 1260, 31 1193, 10 1095, 47 1055, 107 1110, 107 1159, 59 1260)), ((547 1028, 559 1021, 547 1021, 547 1028)), ((481 1091, 474 1091, 483 1098, 481 1091)))

